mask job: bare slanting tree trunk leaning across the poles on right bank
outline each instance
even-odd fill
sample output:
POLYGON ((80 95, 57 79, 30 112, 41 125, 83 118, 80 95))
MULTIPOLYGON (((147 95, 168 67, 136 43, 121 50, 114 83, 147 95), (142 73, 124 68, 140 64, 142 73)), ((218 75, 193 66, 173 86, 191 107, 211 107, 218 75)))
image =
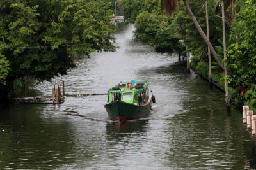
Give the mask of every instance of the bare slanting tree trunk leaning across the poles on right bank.
POLYGON ((202 29, 201 29, 200 25, 198 24, 198 22, 197 22, 195 16, 193 15, 192 11, 190 10, 189 5, 188 5, 188 1, 187 1, 187 0, 183 0, 183 2, 184 2, 185 6, 186 6, 186 8, 187 8, 187 10, 188 10, 188 13, 189 13, 191 19, 193 20, 193 22, 194 22, 194 24, 195 24, 195 26, 196 26, 196 29, 198 29, 199 34, 200 34, 200 35, 202 36, 202 38, 204 39, 205 43, 209 46, 209 48, 210 48, 210 50, 211 50, 211 52, 212 52, 213 57, 216 59, 216 61, 218 62, 218 64, 220 64, 221 68, 224 69, 224 66, 223 66, 223 63, 222 63, 220 57, 218 57, 218 55, 217 55, 216 51, 214 50, 214 48, 213 48, 211 42, 210 42, 210 41, 207 39, 207 37, 205 36, 204 31, 202 31, 202 29))

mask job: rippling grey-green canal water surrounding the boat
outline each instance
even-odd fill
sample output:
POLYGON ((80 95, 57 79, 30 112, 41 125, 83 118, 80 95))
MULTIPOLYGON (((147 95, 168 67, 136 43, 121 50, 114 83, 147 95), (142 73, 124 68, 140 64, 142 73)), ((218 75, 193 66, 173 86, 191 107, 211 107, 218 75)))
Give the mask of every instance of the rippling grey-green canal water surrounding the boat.
MULTIPOLYGON (((68 97, 60 106, 15 104, 0 110, 0 169, 256 169, 256 150, 242 115, 225 111, 225 94, 209 89, 186 64, 132 41, 120 25, 116 52, 77 57, 68 94, 106 93, 120 81, 148 81, 150 117, 108 121, 107 96, 68 97)), ((52 84, 32 84, 51 95, 52 84)))

